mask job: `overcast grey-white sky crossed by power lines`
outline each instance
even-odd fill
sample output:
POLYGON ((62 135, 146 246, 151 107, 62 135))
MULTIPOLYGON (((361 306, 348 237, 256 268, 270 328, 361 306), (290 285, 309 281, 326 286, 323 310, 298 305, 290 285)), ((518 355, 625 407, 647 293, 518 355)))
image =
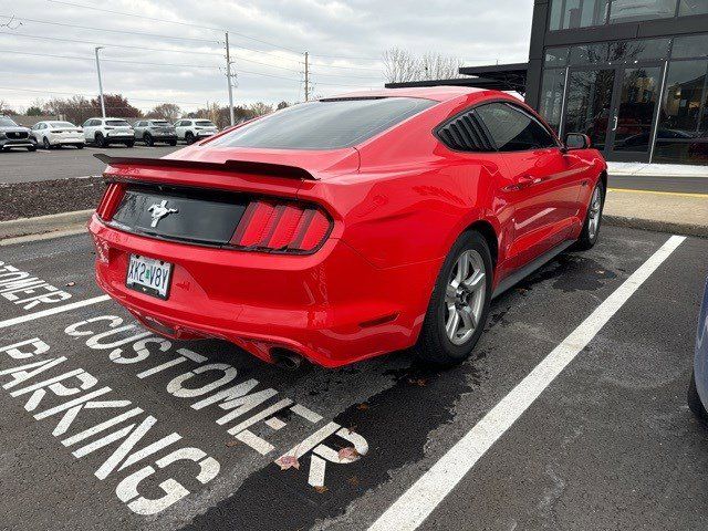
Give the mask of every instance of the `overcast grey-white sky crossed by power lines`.
POLYGON ((296 102, 305 50, 316 95, 382 86, 381 55, 392 46, 466 64, 527 61, 532 8, 532 0, 0 0, 0 25, 9 22, 0 28, 0 100, 24 110, 52 95, 94 96, 94 46, 104 45, 106 93, 143 110, 226 104, 228 29, 235 103, 296 102))

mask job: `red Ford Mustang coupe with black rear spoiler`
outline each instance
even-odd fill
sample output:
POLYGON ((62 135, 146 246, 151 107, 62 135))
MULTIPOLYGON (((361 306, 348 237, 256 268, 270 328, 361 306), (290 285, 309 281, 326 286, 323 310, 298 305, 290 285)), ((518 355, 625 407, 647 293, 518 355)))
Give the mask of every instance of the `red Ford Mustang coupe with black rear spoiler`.
POLYGON ((501 92, 295 105, 176 152, 111 158, 101 288, 169 337, 283 365, 415 346, 469 356, 491 299, 598 235, 606 164, 501 92))

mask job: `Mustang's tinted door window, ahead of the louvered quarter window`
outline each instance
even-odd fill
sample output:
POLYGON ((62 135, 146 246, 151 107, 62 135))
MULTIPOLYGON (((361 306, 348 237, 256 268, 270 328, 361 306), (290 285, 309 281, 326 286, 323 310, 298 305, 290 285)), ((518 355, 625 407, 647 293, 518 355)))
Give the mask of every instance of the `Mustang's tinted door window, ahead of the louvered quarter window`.
POLYGON ((489 103, 476 110, 500 152, 525 152, 558 146, 534 117, 507 103, 489 103))

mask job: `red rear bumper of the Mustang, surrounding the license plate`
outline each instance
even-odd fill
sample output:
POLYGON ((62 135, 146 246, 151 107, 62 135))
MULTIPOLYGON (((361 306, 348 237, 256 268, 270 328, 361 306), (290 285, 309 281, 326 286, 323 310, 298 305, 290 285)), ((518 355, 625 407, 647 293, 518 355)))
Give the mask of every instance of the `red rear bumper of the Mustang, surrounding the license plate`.
POLYGON ((220 337, 272 361, 274 348, 335 367, 413 345, 439 263, 377 269, 330 239, 311 256, 273 256, 155 240, 88 225, 98 285, 168 336, 220 337), (131 253, 174 264, 169 299, 125 287, 131 253))

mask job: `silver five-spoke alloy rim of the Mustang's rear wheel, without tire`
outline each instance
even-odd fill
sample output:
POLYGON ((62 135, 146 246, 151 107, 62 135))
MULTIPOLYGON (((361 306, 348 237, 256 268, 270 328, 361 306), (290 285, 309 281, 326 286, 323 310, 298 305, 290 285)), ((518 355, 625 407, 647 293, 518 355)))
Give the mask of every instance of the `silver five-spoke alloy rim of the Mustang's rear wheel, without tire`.
POLYGON ((454 345, 462 345, 475 334, 487 296, 487 270, 476 250, 460 254, 450 272, 445 292, 445 331, 454 345))

